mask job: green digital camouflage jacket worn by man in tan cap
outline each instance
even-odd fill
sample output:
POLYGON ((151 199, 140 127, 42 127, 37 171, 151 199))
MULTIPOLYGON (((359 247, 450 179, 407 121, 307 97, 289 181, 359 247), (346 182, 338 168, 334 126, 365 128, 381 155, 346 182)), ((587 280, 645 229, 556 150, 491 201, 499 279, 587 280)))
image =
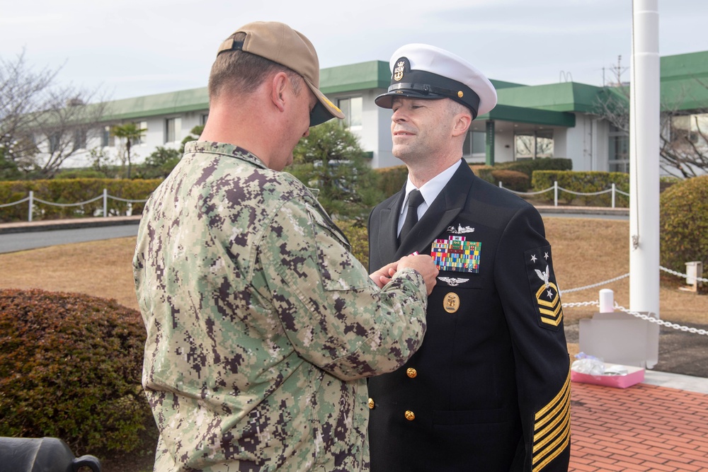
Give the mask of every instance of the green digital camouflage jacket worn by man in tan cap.
POLYGON ((379 289, 315 197, 230 144, 190 142, 133 261, 156 471, 361 471, 365 377, 418 348, 414 270, 379 289))

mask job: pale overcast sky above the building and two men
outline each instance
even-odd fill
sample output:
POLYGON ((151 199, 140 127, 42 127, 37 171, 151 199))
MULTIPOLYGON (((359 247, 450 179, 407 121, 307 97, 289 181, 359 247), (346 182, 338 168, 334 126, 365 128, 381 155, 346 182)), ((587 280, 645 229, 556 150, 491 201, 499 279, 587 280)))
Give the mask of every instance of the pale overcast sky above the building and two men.
MULTIPOLYGON (((708 50, 708 1, 658 0, 659 53, 708 50)), ((282 21, 320 66, 388 62, 427 42, 490 79, 554 84, 629 80, 631 0, 23 0, 0 11, 0 57, 23 50, 62 84, 118 99, 206 86, 217 46, 251 21, 282 21)))

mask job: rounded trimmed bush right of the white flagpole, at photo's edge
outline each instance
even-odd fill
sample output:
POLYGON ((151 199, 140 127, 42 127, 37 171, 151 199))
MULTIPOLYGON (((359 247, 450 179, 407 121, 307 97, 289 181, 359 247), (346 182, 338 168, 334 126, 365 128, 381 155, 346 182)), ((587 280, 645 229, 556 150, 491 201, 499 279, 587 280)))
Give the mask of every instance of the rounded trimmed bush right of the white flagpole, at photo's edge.
MULTIPOLYGON (((686 263, 708 267, 708 175, 675 183, 659 197, 661 265, 686 272, 686 263)), ((705 275, 704 275, 705 277, 705 275)))

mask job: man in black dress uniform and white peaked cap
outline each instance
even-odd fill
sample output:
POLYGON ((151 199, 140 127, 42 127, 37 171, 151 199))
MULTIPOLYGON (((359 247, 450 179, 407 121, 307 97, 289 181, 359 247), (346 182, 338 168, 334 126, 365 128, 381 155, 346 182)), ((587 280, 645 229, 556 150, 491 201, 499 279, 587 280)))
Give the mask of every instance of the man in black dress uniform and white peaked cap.
POLYGON ((566 471, 569 356, 543 221, 461 159, 496 92, 433 46, 401 47, 391 69, 376 103, 393 109, 409 181, 370 215, 370 262, 418 251, 440 275, 420 350, 369 381, 371 470, 566 471))

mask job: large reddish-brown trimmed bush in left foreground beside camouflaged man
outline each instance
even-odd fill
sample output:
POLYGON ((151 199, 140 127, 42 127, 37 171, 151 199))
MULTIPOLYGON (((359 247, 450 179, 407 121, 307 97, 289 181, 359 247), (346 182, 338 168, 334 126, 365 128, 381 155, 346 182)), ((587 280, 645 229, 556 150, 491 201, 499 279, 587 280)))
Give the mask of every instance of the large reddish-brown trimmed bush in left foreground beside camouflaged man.
POLYGON ((0 290, 0 436, 130 452, 156 426, 140 384, 145 330, 115 300, 0 290))

